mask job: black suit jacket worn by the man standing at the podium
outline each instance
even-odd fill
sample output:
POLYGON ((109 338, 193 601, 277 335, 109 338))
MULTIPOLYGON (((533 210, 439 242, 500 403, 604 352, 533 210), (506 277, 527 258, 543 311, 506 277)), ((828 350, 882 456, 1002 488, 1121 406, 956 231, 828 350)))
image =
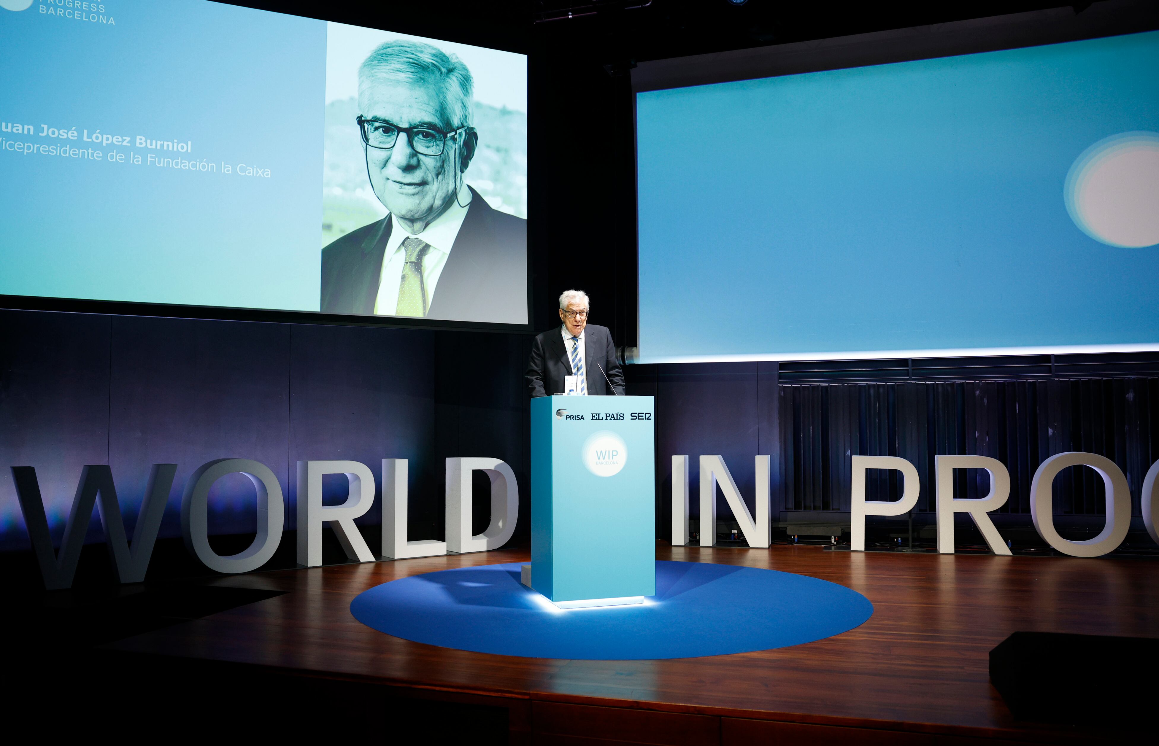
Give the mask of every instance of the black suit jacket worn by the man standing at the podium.
MULTIPOLYGON (((442 280, 440 280, 442 281, 442 280)), ((607 327, 588 324, 583 332, 584 367, 586 368, 588 394, 597 396, 624 395, 624 372, 615 361, 615 345, 612 344, 612 332, 607 327), (612 381, 615 392, 608 389, 604 373, 612 381)), ((563 335, 555 327, 535 337, 531 343, 531 357, 527 359, 527 390, 532 396, 549 396, 563 393, 563 376, 571 375, 571 357, 563 344, 563 335)))

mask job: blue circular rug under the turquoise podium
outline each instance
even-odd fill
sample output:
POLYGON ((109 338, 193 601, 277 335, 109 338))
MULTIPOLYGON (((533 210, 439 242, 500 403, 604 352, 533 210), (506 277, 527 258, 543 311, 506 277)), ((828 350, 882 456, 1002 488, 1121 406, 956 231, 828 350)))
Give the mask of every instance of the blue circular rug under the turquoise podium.
POLYGON ((524 563, 443 570, 360 593, 350 613, 428 645, 529 658, 648 660, 723 656, 839 635, 873 614, 855 591, 803 575, 657 562, 635 606, 557 609, 519 583, 524 563))

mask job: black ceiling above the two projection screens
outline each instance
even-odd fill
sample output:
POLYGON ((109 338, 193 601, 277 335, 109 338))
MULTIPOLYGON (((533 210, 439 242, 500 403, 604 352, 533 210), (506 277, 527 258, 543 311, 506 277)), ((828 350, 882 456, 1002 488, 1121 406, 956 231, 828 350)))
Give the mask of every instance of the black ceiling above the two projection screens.
MULTIPOLYGON (((308 17, 608 65, 1066 7, 1058 0, 927 3, 746 0, 229 0, 308 17), (567 14, 571 12, 573 17, 567 14)), ((1091 3, 1072 5, 1080 13, 1091 3)))

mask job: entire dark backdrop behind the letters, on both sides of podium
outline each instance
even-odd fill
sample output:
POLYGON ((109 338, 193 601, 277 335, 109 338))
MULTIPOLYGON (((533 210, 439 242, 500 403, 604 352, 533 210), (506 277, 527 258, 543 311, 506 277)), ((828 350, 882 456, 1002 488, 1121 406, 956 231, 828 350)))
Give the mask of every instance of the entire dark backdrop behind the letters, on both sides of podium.
MULTIPOLYGON (((150 465, 176 462, 161 536, 178 536, 185 480, 220 458, 253 458, 278 475, 287 529, 297 460, 362 461, 380 499, 380 460, 409 459, 411 539, 443 536, 445 458, 503 459, 520 488, 513 541, 526 542, 529 348, 523 335, 0 310, 0 549, 28 549, 9 466, 36 467, 59 541, 82 466, 112 467, 131 529, 150 465)), ((1154 354, 640 365, 628 381, 629 393, 656 396, 659 539, 670 526, 672 454, 692 456, 693 515, 697 456, 722 454, 751 502, 753 456, 773 455, 773 515, 790 533, 848 524, 853 454, 911 460, 925 524, 933 455, 997 458, 1012 478, 999 522, 1022 528, 1030 477, 1047 456, 1114 460, 1136 517, 1143 475, 1159 459, 1154 354)), ((1060 526, 1102 526, 1102 487, 1087 471, 1056 484, 1060 526)), ((984 475, 958 475, 960 495, 987 489, 984 475)), ((896 488, 888 477, 869 485, 880 498, 896 498, 896 488)), ((342 480, 326 492, 341 502, 342 480)), ((223 480, 212 505, 214 535, 254 531, 245 477, 223 480)), ((476 500, 476 529, 487 511, 476 500)), ((379 521, 378 503, 359 519, 379 521)), ((89 540, 101 540, 96 520, 89 540)))

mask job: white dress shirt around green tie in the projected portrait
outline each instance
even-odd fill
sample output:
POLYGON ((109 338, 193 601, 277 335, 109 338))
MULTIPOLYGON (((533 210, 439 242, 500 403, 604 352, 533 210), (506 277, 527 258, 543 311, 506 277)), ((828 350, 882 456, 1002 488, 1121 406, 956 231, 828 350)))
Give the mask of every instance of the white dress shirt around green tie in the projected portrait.
POLYGON ((407 253, 402 242, 407 239, 422 239, 430 244, 430 250, 423 257, 423 285, 427 287, 427 307, 435 301, 435 287, 438 278, 451 256, 459 228, 467 217, 471 206, 471 190, 464 185, 459 198, 451 203, 446 212, 427 226, 422 233, 407 233, 399 219, 391 214, 391 237, 386 241, 382 255, 382 273, 378 280, 378 298, 374 299, 374 313, 380 316, 393 316, 399 308, 399 290, 402 286, 402 268, 407 263, 407 253))

